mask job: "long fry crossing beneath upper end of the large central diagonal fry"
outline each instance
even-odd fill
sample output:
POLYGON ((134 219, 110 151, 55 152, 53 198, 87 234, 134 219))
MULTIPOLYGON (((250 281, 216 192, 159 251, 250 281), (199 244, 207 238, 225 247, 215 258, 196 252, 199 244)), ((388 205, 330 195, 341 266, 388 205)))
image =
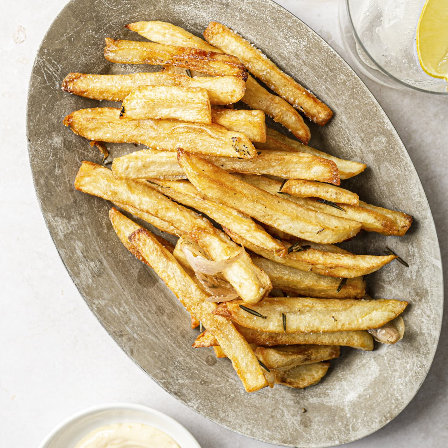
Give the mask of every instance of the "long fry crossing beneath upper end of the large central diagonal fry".
MULTIPOLYGON (((337 182, 337 170, 333 165, 323 162, 324 159, 300 153, 286 155, 284 152, 259 151, 258 157, 237 159, 202 155, 210 163, 227 172, 245 174, 268 174, 279 177, 306 177, 312 179, 337 182)), ((116 157, 112 163, 114 176, 120 179, 167 179, 185 178, 185 172, 177 163, 174 153, 157 150, 134 151, 116 157)))

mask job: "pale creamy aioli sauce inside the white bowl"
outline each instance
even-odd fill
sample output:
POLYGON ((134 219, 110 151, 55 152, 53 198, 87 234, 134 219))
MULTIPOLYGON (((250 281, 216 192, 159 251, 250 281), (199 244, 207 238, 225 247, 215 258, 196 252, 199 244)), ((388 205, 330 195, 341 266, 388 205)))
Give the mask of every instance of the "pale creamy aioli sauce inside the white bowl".
POLYGON ((100 426, 75 448, 180 448, 167 434, 143 423, 113 423, 100 426))

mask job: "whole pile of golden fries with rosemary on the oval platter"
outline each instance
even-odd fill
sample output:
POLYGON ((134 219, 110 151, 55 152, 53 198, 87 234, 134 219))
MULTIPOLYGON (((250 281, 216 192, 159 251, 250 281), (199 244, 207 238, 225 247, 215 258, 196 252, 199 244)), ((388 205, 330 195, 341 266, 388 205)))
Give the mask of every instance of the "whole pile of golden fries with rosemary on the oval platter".
POLYGON ((302 114, 325 125, 331 109, 225 25, 211 22, 205 40, 165 22, 126 27, 148 42, 106 38, 105 58, 162 69, 64 79, 67 92, 121 103, 65 117, 103 155, 82 162, 75 188, 112 202, 123 245, 177 296, 191 327, 205 328, 193 347, 229 358, 254 392, 318 383, 340 346, 398 342, 408 303, 366 296, 364 276, 403 260, 334 243, 361 230, 404 235, 412 217, 340 187, 365 164, 307 146, 302 114), (293 135, 267 128, 266 115, 293 135), (130 146, 109 169, 105 142, 147 149, 130 146), (179 237, 176 246, 118 209, 179 237))

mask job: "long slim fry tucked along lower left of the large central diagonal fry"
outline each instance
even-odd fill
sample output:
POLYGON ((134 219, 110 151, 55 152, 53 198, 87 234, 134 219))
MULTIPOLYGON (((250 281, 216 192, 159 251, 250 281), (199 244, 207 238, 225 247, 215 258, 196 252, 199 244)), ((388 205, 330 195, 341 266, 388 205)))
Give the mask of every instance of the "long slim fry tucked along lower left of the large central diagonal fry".
POLYGON ((151 184, 151 187, 155 190, 176 202, 205 213, 218 224, 244 235, 245 238, 253 241, 254 244, 261 245, 265 250, 279 256, 286 253, 281 242, 267 234, 249 216, 219 202, 205 198, 190 182, 163 181, 159 179, 152 179, 152 181, 154 183, 151 184))

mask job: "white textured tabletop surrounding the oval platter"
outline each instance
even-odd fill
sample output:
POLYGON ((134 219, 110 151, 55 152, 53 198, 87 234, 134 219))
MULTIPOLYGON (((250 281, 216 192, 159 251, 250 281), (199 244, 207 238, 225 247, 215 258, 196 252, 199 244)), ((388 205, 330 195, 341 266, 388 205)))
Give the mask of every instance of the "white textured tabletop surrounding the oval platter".
MULTIPOLYGON (((345 56, 337 26, 337 1, 278 3, 345 56)), ((35 53, 64 4, 61 0, 16 0, 1 7, 0 447, 35 447, 61 419, 79 409, 130 401, 177 419, 204 448, 267 448, 271 445, 202 418, 154 383, 99 325, 59 259, 34 194, 25 111, 35 53)), ((392 90, 363 80, 414 161, 447 265, 448 98, 392 90)), ((405 180, 397 179, 397 188, 405 185, 405 180)), ((447 314, 445 311, 435 361, 414 400, 383 429, 346 446, 447 446, 447 314)))

